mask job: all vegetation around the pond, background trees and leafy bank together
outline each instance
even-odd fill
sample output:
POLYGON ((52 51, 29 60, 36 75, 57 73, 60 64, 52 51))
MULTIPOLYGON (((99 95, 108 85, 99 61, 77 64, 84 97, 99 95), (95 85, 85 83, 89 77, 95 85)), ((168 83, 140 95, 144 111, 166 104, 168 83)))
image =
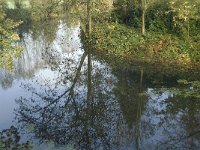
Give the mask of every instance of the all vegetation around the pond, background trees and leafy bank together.
MULTIPOLYGON (((82 29, 87 29, 89 40, 85 39, 84 42, 92 45, 93 50, 101 52, 102 55, 109 54, 128 62, 173 64, 187 68, 200 61, 199 0, 13 2, 13 5, 9 6, 5 0, 1 0, 1 62, 5 59, 11 62, 11 58, 16 56, 14 54, 4 57, 3 54, 14 48, 6 46, 19 40, 13 32, 19 23, 12 20, 34 24, 37 21, 65 17, 69 13, 79 17, 82 29)), ((19 31, 18 29, 18 33, 19 31)))

